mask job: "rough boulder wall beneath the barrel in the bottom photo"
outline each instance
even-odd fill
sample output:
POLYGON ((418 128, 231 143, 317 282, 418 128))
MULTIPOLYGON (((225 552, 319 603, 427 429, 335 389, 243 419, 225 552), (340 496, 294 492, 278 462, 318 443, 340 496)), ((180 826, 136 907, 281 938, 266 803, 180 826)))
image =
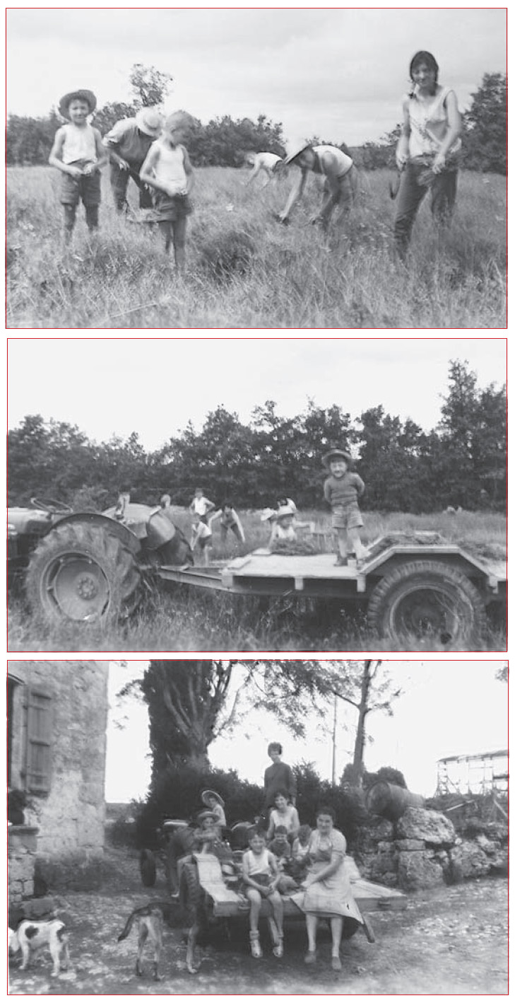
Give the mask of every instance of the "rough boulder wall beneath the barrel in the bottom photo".
POLYGON ((491 822, 470 839, 440 811, 408 808, 397 822, 362 826, 353 845, 362 876, 413 891, 508 869, 508 826, 491 822))

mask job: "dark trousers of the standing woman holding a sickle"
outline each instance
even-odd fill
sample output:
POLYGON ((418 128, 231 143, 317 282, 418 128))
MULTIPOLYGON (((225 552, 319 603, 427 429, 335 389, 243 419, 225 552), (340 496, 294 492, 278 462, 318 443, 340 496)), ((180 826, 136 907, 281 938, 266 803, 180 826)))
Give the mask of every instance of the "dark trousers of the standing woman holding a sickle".
POLYGON ((451 221, 456 202, 458 172, 442 171, 431 178, 428 186, 428 170, 427 163, 410 162, 401 176, 394 235, 402 258, 408 250, 419 206, 428 192, 431 193, 431 212, 435 221, 441 226, 448 225, 451 221))

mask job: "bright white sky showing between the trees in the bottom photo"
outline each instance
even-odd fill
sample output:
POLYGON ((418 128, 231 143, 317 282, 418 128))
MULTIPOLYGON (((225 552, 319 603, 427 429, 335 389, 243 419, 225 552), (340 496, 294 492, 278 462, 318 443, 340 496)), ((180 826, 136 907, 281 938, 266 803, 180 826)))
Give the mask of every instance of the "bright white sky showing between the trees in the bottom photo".
MULTIPOLYGON (((123 709, 115 694, 126 681, 140 674, 144 662, 129 662, 127 669, 111 663, 111 710, 107 740, 106 799, 144 797, 149 780, 148 718, 146 707, 135 701, 123 709), (122 721, 123 728, 114 721, 122 721)), ((394 715, 375 713, 368 719, 374 742, 365 752, 367 769, 380 766, 400 769, 411 790, 430 796, 435 792, 437 760, 447 755, 488 752, 508 747, 508 687, 495 679, 499 661, 385 662, 404 693, 394 703, 394 715)), ((355 717, 340 702, 337 738, 337 773, 340 777, 352 758, 355 717), (348 724, 349 730, 344 725, 348 724)), ((306 740, 295 739, 277 718, 250 712, 230 738, 216 739, 209 749, 211 765, 236 769, 242 779, 263 782, 270 765, 267 746, 283 742, 290 764, 314 762, 324 779, 331 778, 332 717, 324 727, 314 720, 306 740)))

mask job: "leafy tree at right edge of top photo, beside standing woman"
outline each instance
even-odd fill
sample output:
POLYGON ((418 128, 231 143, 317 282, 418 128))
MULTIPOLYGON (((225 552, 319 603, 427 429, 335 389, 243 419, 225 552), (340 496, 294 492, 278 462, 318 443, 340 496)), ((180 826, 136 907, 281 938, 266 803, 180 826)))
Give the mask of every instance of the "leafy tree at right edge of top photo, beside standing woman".
POLYGON ((464 116, 466 163, 472 170, 506 174, 507 100, 506 73, 485 73, 464 116))

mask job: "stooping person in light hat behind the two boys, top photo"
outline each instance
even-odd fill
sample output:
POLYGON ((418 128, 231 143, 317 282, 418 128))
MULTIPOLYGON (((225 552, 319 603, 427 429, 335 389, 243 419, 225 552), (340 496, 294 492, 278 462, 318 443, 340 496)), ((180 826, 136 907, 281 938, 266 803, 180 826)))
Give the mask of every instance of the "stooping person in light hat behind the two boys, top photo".
POLYGON ((129 178, 139 189, 139 208, 151 209, 152 197, 139 172, 154 139, 160 135, 162 117, 157 108, 140 108, 134 118, 121 118, 104 135, 111 163, 110 182, 117 213, 127 211, 129 178))

